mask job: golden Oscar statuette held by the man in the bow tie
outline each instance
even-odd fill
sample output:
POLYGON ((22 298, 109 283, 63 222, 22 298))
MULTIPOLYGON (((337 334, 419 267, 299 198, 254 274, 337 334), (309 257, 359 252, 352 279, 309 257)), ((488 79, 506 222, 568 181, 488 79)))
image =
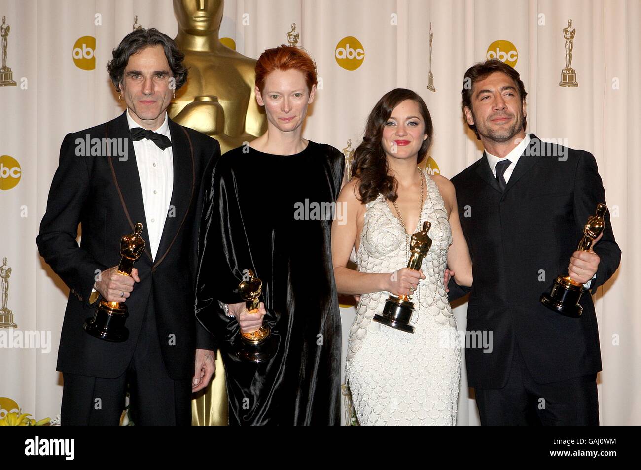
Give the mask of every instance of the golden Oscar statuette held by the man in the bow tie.
MULTIPOLYGON (((141 233, 142 223, 138 222, 134 225, 132 234, 122 237, 121 261, 118 264, 119 274, 130 276, 133 263, 142 255, 145 241, 140 236, 141 233)), ((129 330, 124 326, 128 316, 127 305, 101 299, 96 307, 94 318, 87 318, 83 328, 88 334, 98 339, 122 343, 129 337, 129 330)))

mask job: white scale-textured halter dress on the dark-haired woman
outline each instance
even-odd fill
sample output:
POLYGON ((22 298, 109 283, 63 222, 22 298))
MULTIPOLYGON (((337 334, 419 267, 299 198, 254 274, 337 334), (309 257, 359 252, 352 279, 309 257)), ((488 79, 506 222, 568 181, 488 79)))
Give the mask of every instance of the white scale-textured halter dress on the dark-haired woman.
MULTIPOLYGON (((452 236, 438 186, 424 175, 427 196, 412 233, 428 220, 432 245, 421 266, 426 279, 412 296, 415 332, 372 320, 383 312, 390 295, 385 291, 361 296, 349 330, 345 377, 360 425, 456 425, 461 350, 443 284, 452 236)), ((401 221, 383 195, 366 207, 358 271, 392 273, 406 267, 409 247, 401 221)))

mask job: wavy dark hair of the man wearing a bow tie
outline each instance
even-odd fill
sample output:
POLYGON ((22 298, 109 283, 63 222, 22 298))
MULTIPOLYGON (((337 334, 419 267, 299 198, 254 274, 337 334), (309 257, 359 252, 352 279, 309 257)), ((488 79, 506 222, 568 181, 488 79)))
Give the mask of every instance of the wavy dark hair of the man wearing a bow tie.
POLYGON ((185 54, 181 53, 176 42, 156 28, 140 28, 124 36, 121 44, 116 49, 113 49, 113 59, 107 63, 109 76, 117 92, 121 91, 122 76, 131 54, 136 54, 142 49, 154 45, 162 45, 163 49, 165 49, 165 57, 167 57, 169 68, 176 80, 176 90, 185 85, 187 81, 187 69, 183 66, 185 54))

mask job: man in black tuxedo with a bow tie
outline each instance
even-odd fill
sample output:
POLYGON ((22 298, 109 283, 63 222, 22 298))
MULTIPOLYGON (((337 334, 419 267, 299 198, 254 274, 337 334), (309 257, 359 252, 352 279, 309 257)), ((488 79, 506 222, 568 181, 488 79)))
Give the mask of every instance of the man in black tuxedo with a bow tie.
POLYGON ((71 289, 56 368, 63 425, 117 425, 127 383, 137 425, 190 425, 192 391, 215 367, 213 337, 194 320, 194 273, 201 177, 220 146, 167 115, 183 57, 157 29, 129 33, 108 64, 128 109, 62 142, 37 243, 71 289), (121 238, 137 222, 146 247, 128 277, 121 238), (128 307, 126 341, 83 330, 101 298, 128 307))

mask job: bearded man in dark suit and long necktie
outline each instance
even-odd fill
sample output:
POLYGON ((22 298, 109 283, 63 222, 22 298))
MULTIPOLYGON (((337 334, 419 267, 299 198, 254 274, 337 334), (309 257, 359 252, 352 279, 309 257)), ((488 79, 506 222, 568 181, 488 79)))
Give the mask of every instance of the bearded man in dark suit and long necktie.
MULTIPOLYGON (((463 115, 485 148, 452 179, 474 273, 468 382, 483 425, 598 425, 601 352, 590 292, 617 270, 621 252, 609 214, 598 245, 576 251, 588 217, 605 204, 597 164, 584 150, 526 134, 526 94, 501 61, 465 73, 463 115), (539 301, 566 272, 589 288, 579 318, 539 301)), ((451 298, 463 293, 449 288, 451 298)))

